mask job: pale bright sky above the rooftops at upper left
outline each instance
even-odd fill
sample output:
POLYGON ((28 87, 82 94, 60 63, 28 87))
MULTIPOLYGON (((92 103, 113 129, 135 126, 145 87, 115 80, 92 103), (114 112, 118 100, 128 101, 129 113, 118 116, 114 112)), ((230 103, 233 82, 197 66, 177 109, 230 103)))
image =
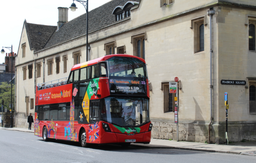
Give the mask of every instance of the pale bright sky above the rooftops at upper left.
MULTIPOLYGON (((89 11, 109 2, 110 0, 89 0, 89 11)), ((1 0, 0 10, 0 50, 2 46, 13 45, 13 52, 18 52, 22 26, 26 19, 28 23, 56 25, 58 21, 58 7, 69 7, 73 0, 1 0), (5 7, 3 7, 5 6, 5 7)), ((75 2, 77 11, 69 10, 69 21, 85 13, 85 8, 75 2)), ((4 49, 10 53, 8 49, 4 49)), ((4 62, 5 54, 0 54, 0 63, 4 62)))

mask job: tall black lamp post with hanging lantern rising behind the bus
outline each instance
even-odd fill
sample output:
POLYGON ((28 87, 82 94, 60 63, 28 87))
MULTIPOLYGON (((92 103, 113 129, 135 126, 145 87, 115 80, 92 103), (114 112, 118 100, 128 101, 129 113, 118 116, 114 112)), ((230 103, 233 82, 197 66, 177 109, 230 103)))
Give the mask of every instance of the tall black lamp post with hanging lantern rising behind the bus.
POLYGON ((71 9, 72 12, 75 12, 75 10, 77 9, 77 6, 75 5, 74 1, 77 1, 79 3, 81 3, 86 10, 86 61, 88 61, 88 1, 83 1, 83 0, 73 0, 73 3, 71 4, 71 6, 69 7, 71 9))

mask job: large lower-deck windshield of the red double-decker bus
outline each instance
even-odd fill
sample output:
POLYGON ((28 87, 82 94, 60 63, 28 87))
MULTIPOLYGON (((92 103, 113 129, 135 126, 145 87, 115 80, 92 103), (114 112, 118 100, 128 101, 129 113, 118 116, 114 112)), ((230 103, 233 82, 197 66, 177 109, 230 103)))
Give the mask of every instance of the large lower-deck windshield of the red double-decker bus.
POLYGON ((150 120, 149 100, 144 98, 104 98, 101 120, 119 127, 140 126, 150 120))

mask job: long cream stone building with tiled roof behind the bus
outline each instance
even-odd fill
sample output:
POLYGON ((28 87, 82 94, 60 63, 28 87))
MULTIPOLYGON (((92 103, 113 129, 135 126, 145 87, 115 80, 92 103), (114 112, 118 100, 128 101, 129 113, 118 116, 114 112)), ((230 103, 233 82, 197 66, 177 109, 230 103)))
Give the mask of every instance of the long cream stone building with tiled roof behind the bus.
MULTIPOLYGON (((16 56, 17 127, 34 113, 36 83, 67 77, 86 61, 86 13, 68 21, 68 8, 58 10, 57 26, 24 21, 16 56)), ((146 60, 154 138, 177 138, 168 87, 178 77, 179 140, 225 141, 224 92, 228 140, 255 140, 255 22, 252 0, 112 0, 89 12, 88 57, 146 60)))

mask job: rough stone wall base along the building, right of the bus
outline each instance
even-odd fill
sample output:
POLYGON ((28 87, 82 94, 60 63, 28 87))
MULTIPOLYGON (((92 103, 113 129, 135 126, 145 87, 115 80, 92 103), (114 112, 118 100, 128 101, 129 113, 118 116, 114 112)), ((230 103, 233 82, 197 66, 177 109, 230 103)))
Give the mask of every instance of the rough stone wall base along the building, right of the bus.
MULTIPOLYGON (((177 125, 167 120, 152 121, 152 136, 156 139, 177 140, 177 125)), ((208 121, 180 121, 179 140, 189 142, 208 142, 208 121)), ((225 143, 226 123, 213 123, 211 143, 225 143)), ((228 122, 228 141, 256 140, 256 122, 228 122)))

